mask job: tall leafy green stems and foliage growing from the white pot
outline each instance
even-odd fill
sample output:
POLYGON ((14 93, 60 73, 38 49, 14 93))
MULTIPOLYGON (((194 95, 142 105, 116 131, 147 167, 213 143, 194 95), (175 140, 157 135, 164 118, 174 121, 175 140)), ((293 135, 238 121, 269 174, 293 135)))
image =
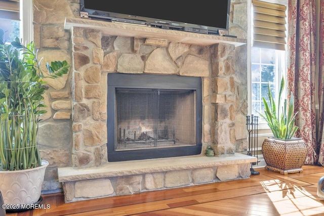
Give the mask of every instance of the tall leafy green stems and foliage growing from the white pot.
POLYGON ((0 170, 21 170, 42 165, 37 132, 46 87, 44 78, 67 74, 66 61, 47 63, 44 75, 34 42, 19 38, 3 41, 0 29, 0 170))

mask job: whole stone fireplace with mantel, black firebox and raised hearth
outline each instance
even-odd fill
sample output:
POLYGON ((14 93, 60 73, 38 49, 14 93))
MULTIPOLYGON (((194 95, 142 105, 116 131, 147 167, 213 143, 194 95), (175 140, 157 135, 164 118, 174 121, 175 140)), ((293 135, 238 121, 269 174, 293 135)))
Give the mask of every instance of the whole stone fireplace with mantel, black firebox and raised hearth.
POLYGON ((73 146, 72 166, 59 167, 58 179, 66 202, 250 177, 257 159, 238 153, 235 143, 234 51, 245 39, 83 18, 66 18, 65 29, 72 42, 73 146), (115 86, 115 75, 127 77, 123 87, 115 86), (148 76, 159 78, 145 88, 127 81, 148 76), (182 88, 187 79, 198 87, 182 88), (150 108, 116 100, 134 94, 145 107, 159 97, 150 108), (157 117, 143 118, 144 110, 157 117), (167 147, 147 147, 158 143, 167 147), (205 156, 207 146, 215 157, 205 156))

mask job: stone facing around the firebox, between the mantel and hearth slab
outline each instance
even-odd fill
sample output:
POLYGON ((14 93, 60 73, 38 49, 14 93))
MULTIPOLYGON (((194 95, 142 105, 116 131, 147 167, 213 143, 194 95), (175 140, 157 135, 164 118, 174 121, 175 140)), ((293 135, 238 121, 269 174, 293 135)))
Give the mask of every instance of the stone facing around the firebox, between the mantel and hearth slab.
POLYGON ((217 156, 234 154, 234 45, 198 46, 103 35, 101 31, 80 27, 72 30, 72 45, 72 121, 82 128, 73 131, 73 166, 91 167, 107 162, 106 79, 107 73, 112 72, 201 77, 205 112, 201 154, 208 145, 217 156), (109 42, 103 46, 100 41, 109 42), (81 46, 85 49, 78 49, 81 46))

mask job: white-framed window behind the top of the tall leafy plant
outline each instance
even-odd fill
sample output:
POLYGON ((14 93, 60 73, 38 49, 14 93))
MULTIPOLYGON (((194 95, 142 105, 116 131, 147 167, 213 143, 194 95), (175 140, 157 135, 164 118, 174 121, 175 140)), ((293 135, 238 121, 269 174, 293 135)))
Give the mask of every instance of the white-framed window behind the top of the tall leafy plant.
POLYGON ((8 31, 5 40, 33 40, 32 17, 32 0, 0 0, 0 28, 8 31))

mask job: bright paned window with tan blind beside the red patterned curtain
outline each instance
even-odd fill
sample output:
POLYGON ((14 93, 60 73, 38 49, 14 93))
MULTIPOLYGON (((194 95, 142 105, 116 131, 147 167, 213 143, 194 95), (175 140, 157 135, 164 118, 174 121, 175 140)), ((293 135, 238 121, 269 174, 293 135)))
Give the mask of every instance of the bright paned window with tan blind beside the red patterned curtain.
MULTIPOLYGON (((251 46, 249 50, 249 113, 263 113, 262 98, 268 99, 268 83, 272 96, 277 98, 280 80, 286 74, 287 40, 286 0, 252 0, 251 46)), ((259 128, 267 128, 264 119, 259 118, 259 128)))

